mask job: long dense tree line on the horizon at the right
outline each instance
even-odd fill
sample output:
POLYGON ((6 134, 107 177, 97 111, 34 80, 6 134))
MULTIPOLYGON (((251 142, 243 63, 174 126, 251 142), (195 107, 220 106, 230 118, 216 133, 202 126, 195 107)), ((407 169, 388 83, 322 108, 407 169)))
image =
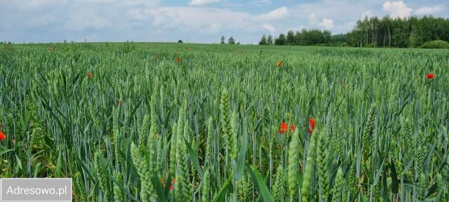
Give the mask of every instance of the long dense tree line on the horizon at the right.
POLYGON ((432 16, 366 17, 358 20, 354 29, 347 34, 332 35, 330 31, 320 29, 289 30, 277 38, 263 35, 259 44, 415 48, 435 40, 449 41, 449 19, 432 16))

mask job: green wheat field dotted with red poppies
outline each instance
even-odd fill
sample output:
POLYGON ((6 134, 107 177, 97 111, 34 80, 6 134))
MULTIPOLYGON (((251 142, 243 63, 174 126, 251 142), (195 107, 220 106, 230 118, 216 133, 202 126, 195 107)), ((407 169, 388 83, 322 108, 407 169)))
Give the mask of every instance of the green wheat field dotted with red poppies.
POLYGON ((449 201, 449 51, 0 47, 0 177, 74 201, 449 201))

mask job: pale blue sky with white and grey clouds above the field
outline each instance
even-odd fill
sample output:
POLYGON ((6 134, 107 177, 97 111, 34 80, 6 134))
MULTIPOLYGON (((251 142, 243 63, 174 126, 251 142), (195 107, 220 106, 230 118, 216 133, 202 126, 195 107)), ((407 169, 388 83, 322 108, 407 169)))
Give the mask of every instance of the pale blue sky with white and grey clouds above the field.
POLYGON ((364 16, 449 18, 447 0, 0 0, 0 41, 154 41, 243 44, 263 34, 347 33, 364 16))

